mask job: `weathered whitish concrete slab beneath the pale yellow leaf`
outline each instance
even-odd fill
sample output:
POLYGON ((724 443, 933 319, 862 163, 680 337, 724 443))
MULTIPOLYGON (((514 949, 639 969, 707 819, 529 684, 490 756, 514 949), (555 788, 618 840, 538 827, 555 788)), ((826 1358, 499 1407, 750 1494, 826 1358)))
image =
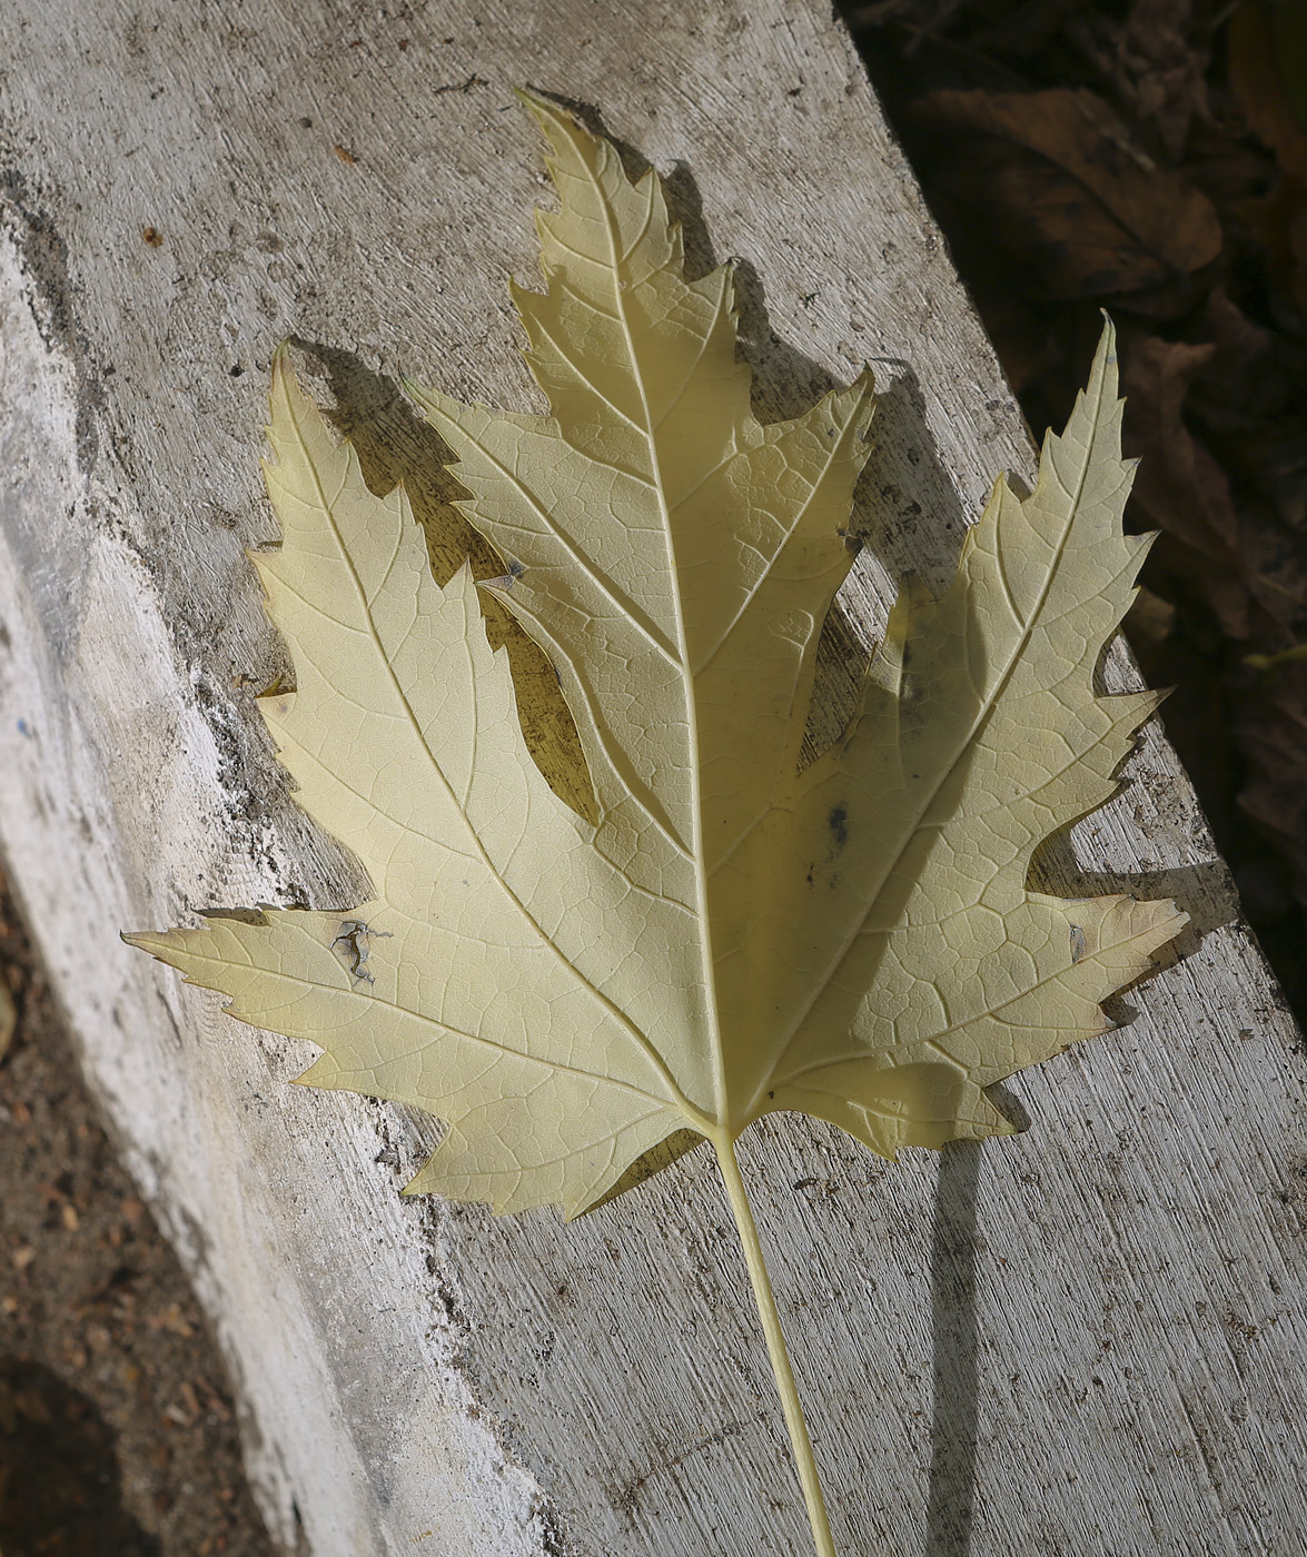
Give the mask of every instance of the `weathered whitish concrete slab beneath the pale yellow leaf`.
MULTIPOLYGON (((301 1049, 117 931, 351 897, 251 710, 284 663, 243 556, 265 374, 315 346, 377 480, 433 504, 400 366, 527 403, 511 84, 598 109, 698 257, 748 262, 765 406, 890 360, 860 525, 896 567, 941 576, 992 470, 1028 470, 846 39, 823 0, 11 0, 0 44, 0 839, 274 1527, 316 1557, 804 1551, 710 1162, 569 1228, 403 1204, 430 1123, 290 1088, 301 1049)), ((879 613, 863 565, 843 640, 879 613)), ((1073 852, 1055 875, 1137 872, 1195 928, 1120 1032, 1008 1088, 1027 1137, 896 1171, 804 1119, 745 1143, 849 1557, 1307 1548, 1307 1067, 1157 727, 1073 852)))

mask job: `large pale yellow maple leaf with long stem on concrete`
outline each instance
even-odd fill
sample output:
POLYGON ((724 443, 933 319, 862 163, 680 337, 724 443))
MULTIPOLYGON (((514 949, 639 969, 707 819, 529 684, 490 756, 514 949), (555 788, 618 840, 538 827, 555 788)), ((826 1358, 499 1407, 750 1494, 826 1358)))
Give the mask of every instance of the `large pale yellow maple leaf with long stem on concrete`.
POLYGON ((368 490, 279 353, 282 543, 254 562, 296 690, 260 708, 374 897, 129 939, 319 1045, 301 1081, 446 1119, 410 1191, 572 1216, 709 1138, 829 1552, 735 1138, 773 1110, 886 1157, 1009 1133, 983 1088, 1100 1032, 1185 917, 1027 886, 1156 704, 1094 693, 1147 550, 1120 523, 1111 327, 1034 492, 995 486, 942 598, 904 590, 855 718, 801 771, 871 375, 760 425, 729 266, 685 280, 657 176, 528 101, 561 204, 537 216, 547 293, 514 296, 550 414, 414 394, 511 562, 483 587, 558 671, 594 814, 531 760, 470 571, 436 585, 403 490, 368 490))

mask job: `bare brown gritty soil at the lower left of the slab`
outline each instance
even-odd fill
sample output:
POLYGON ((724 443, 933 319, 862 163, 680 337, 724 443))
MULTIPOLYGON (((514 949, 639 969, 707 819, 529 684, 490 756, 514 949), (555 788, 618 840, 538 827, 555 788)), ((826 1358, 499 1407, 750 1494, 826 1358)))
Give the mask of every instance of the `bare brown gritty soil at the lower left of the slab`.
POLYGON ((0 878, 0 1552, 276 1557, 223 1364, 118 1166, 0 878))

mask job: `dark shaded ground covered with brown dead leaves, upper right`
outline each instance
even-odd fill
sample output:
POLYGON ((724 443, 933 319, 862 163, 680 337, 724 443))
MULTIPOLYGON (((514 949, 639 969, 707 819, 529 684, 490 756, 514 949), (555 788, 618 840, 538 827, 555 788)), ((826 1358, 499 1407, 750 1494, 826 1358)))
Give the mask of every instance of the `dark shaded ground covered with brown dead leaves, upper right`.
POLYGON ((880 0, 843 11, 1036 433, 1108 308, 1126 632, 1307 1018, 1307 6, 880 0))

